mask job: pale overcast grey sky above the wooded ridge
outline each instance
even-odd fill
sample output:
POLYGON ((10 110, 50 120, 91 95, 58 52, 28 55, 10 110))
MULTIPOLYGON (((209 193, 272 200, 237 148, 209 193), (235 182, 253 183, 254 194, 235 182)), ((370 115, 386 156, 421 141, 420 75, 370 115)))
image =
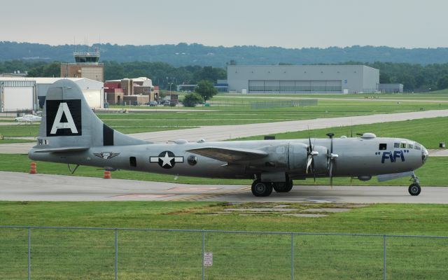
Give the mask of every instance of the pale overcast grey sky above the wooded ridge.
POLYGON ((0 41, 448 47, 446 0, 1 1, 0 41))

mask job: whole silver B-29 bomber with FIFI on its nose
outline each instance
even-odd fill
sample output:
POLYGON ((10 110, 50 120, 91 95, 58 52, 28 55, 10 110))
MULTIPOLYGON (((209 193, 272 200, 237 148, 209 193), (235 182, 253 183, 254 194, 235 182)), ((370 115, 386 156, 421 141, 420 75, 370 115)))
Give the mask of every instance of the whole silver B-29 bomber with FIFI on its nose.
MULTIPOLYGON (((78 85, 58 80, 45 100, 38 144, 31 160, 209 178, 253 179, 252 193, 266 197, 287 193, 293 180, 356 177, 379 181, 411 176, 410 195, 421 188, 414 170, 428 158, 421 144, 408 139, 360 137, 223 141, 177 140, 159 144, 135 139, 102 123, 78 85)), ((71 165, 76 165, 74 169, 71 165)))

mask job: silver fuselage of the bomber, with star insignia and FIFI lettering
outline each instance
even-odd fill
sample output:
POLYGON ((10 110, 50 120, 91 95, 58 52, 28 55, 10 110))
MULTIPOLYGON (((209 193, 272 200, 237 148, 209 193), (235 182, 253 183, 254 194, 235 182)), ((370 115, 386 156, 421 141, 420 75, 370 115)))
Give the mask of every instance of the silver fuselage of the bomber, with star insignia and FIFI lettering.
MULTIPOLYGON (((179 176, 253 178, 253 174, 262 172, 286 172, 291 179, 302 179, 313 177, 313 174, 309 174, 309 172, 307 174, 306 170, 308 141, 309 139, 202 143, 179 141, 180 144, 97 146, 82 152, 52 154, 35 153, 38 151, 36 147, 29 151, 29 158, 179 176), (255 149, 267 151, 269 155, 262 159, 239 160, 228 164, 228 162, 188 152, 209 146, 255 149), (167 152, 168 155, 165 158, 167 152)), ((311 143, 315 149, 320 148, 321 150, 314 159, 316 161, 316 176, 328 176, 327 153, 330 150, 330 139, 311 139, 311 143)), ((335 138, 333 139, 333 153, 338 157, 333 162, 332 176, 353 177, 413 171, 421 167, 428 157, 426 148, 414 141, 379 137, 372 139, 335 138)))

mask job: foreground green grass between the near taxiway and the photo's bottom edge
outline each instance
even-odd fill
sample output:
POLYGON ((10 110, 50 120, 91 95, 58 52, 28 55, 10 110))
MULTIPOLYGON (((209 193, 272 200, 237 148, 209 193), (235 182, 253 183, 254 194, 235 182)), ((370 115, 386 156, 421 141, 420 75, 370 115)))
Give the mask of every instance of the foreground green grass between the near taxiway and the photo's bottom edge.
MULTIPOLYGON (((375 204, 323 218, 208 215, 217 209, 241 206, 203 202, 0 202, 0 221, 2 225, 263 232, 437 236, 448 232, 447 206, 433 204, 375 204)), ((113 279, 114 243, 113 231, 32 230, 32 279, 113 279)), ((206 268, 206 279, 290 279, 290 244, 290 235, 207 232, 204 248, 214 253, 214 266, 206 268)), ((382 237, 296 235, 294 247, 296 279, 381 279, 383 273, 382 237)), ((444 279, 448 273, 444 265, 447 250, 446 239, 388 237, 387 277, 444 279)), ((26 229, 0 229, 3 279, 26 278, 26 252, 26 229)), ((120 279, 200 279, 201 255, 201 232, 118 232, 120 279)))

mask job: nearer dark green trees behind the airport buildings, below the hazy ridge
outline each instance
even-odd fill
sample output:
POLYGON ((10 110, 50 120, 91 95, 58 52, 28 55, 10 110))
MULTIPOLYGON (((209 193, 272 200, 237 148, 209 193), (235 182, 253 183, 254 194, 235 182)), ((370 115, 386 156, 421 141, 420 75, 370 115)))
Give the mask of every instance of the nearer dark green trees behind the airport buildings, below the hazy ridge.
MULTIPOLYGON (((237 64, 232 60, 229 64, 237 64)), ((406 92, 428 92, 448 88, 448 63, 409 64, 392 62, 346 62, 340 64, 363 64, 379 69, 380 83, 402 83, 406 92)), ((31 77, 59 77, 60 62, 35 60, 10 60, 0 62, 0 73, 20 71, 31 77)), ((200 80, 216 83, 227 78, 227 70, 212 66, 172 66, 165 62, 104 62, 105 80, 148 77, 154 85, 168 89, 171 85, 197 84, 200 80)))

